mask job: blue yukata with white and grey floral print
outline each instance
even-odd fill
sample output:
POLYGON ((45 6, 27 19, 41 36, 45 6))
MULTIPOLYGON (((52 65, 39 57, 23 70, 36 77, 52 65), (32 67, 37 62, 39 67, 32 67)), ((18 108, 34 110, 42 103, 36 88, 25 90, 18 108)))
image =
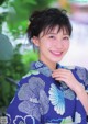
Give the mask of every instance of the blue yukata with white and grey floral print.
MULTIPOLYGON (((69 69, 88 91, 88 71, 81 67, 69 69)), ((81 92, 82 93, 82 92, 81 92)), ((52 70, 35 61, 31 71, 19 82, 8 110, 8 124, 87 124, 86 111, 76 93, 65 82, 52 78, 52 70)))

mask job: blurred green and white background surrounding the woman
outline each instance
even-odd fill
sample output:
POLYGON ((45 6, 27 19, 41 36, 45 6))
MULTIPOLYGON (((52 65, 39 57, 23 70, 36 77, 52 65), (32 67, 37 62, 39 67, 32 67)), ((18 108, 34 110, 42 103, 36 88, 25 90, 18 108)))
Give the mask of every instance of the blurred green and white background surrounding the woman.
POLYGON ((0 0, 0 115, 30 64, 37 60, 26 37, 29 16, 50 7, 67 10, 73 24, 70 48, 61 64, 88 69, 88 0, 0 0))

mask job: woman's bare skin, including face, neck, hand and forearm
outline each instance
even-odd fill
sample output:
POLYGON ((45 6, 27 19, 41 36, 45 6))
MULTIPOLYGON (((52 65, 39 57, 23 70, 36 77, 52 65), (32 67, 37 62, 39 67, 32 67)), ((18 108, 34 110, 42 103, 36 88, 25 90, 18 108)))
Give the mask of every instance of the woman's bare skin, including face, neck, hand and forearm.
POLYGON ((55 26, 48 33, 41 32, 38 37, 33 36, 33 43, 38 47, 38 58, 52 70, 52 77, 55 80, 64 81, 78 97, 88 114, 88 95, 84 86, 67 69, 56 69, 56 63, 59 63, 69 48, 69 35, 65 29, 59 30, 55 26), (82 93, 81 93, 82 92, 82 93))

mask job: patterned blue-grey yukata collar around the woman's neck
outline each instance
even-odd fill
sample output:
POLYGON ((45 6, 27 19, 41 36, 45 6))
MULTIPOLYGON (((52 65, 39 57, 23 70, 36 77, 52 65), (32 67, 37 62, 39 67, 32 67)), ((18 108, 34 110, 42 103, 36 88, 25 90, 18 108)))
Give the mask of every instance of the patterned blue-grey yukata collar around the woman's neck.
MULTIPOLYGON (((59 64, 57 64, 56 68, 59 68, 59 64)), ((38 70, 41 74, 45 75, 46 77, 51 77, 52 76, 52 70, 41 60, 32 63, 31 66, 32 70, 38 70)))

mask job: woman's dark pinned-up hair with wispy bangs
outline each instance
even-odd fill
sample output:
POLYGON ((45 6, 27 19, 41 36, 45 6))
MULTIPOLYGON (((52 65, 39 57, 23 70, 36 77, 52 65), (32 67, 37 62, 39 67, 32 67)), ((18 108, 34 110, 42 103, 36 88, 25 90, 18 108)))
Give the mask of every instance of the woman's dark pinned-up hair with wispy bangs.
POLYGON ((46 27, 52 30, 56 25, 58 25, 59 30, 65 27, 68 35, 72 34, 72 24, 65 10, 51 8, 35 11, 29 20, 30 25, 26 32, 30 41, 33 36, 38 36, 46 27))

